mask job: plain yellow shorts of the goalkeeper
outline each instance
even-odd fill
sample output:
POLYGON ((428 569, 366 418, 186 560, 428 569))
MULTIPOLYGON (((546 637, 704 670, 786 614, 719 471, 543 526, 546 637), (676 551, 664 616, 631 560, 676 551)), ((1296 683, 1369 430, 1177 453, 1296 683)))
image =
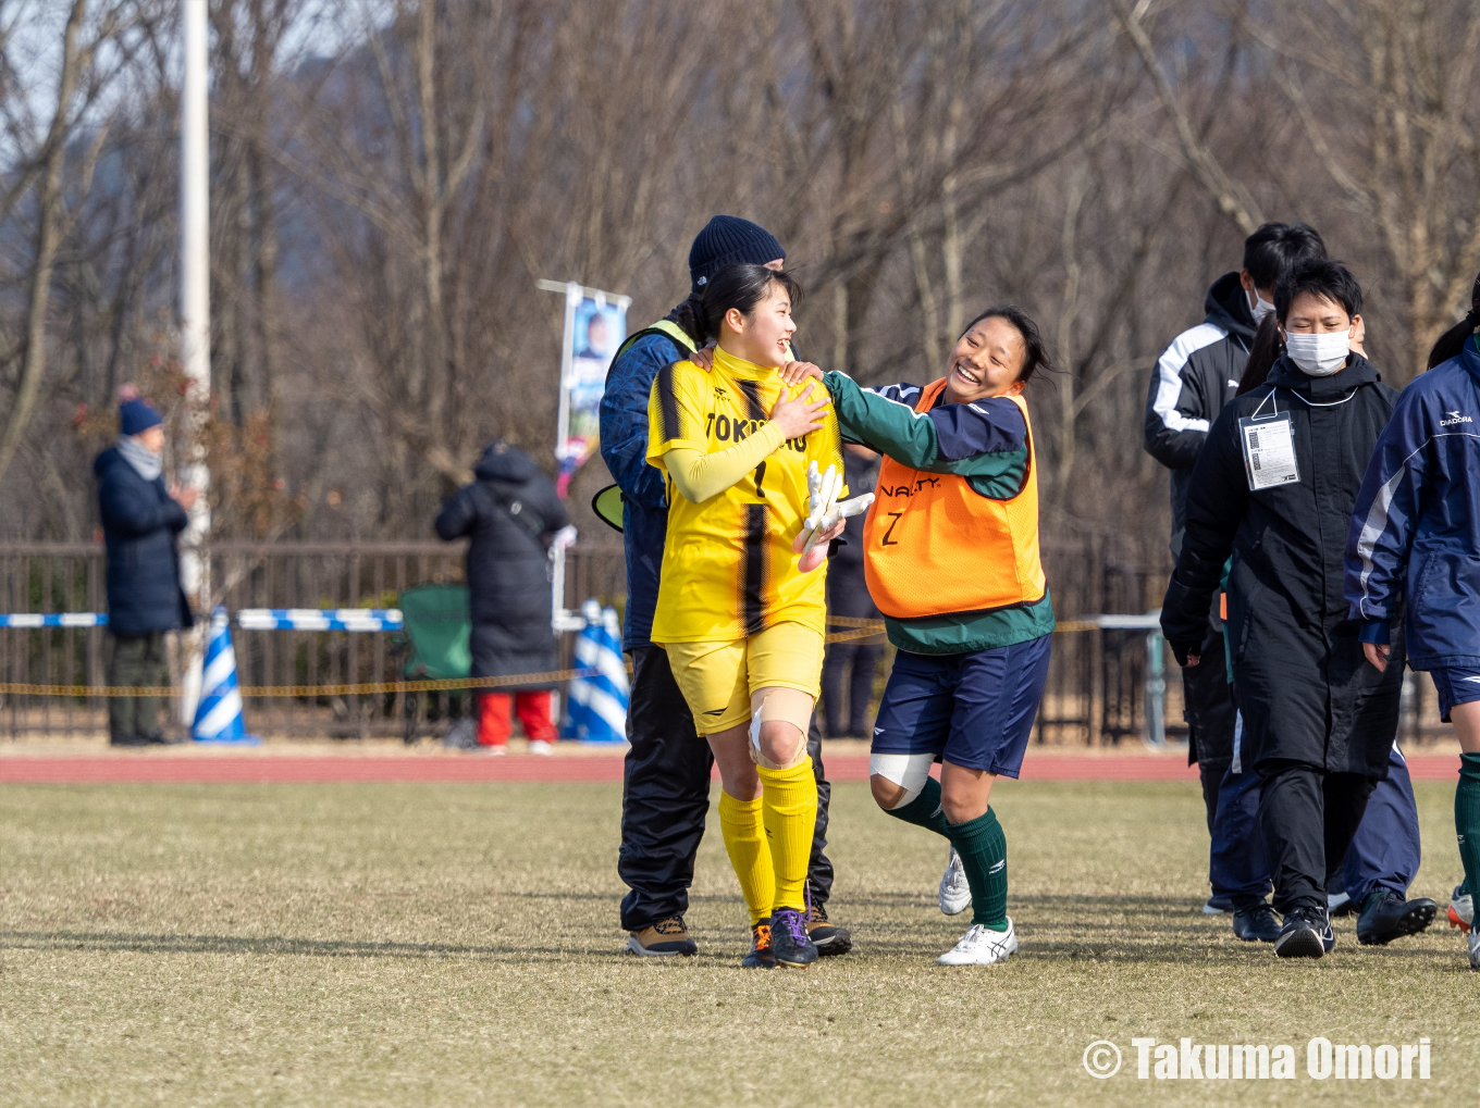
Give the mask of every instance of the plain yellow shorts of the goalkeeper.
POLYGON ((814 701, 821 692, 823 636, 799 623, 733 642, 667 642, 663 649, 700 735, 749 722, 758 689, 799 689, 814 701))

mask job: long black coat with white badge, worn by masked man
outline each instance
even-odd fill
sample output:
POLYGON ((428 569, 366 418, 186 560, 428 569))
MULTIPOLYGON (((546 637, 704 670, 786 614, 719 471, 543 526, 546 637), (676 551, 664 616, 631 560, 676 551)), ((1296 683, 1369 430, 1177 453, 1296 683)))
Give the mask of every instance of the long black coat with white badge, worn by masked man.
POLYGON ((1187 531, 1162 607, 1174 649, 1196 651, 1224 562, 1234 697, 1245 756, 1261 772, 1298 762, 1325 772, 1387 774, 1403 679, 1402 633, 1378 673, 1347 618, 1342 556, 1378 433, 1397 401, 1362 355, 1331 377, 1288 358, 1264 386, 1224 405, 1193 469, 1187 531), (1270 393, 1274 393, 1273 401, 1270 393), (1264 404, 1291 413, 1299 482, 1249 491, 1239 420, 1264 404))

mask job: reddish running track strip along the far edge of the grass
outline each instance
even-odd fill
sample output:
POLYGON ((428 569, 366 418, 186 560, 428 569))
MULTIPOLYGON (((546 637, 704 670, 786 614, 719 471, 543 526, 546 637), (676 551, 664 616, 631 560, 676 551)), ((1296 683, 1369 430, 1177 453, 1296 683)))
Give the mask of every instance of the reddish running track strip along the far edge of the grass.
MULTIPOLYGON (((869 759, 827 757, 833 781, 864 781, 869 759)), ((1415 781, 1453 781, 1452 754, 1416 754, 1407 762, 1415 781)), ((293 784, 334 781, 620 781, 616 753, 533 757, 478 756, 311 756, 311 754, 167 754, 110 751, 102 754, 16 754, 0 757, 0 784, 182 783, 293 784)), ((1196 781, 1197 769, 1166 754, 1033 754, 1024 781, 1196 781)))

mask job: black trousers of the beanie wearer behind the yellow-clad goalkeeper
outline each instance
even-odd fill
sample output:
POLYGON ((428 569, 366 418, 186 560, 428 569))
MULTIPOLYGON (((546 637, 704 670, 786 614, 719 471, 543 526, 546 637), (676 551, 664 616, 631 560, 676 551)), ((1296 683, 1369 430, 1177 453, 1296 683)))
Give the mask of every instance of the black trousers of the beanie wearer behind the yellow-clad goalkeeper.
MULTIPOLYGON (((628 704, 628 750, 622 781, 622 846, 617 874, 630 889, 622 898, 622 929, 641 930, 688 911, 694 858, 709 815, 709 778, 715 757, 694 731, 684 694, 678 691, 662 646, 632 654, 628 704)), ((821 735, 815 715, 807 737, 817 774, 817 830, 807 873, 814 904, 832 892, 827 845, 827 802, 832 786, 823 775, 821 735)))

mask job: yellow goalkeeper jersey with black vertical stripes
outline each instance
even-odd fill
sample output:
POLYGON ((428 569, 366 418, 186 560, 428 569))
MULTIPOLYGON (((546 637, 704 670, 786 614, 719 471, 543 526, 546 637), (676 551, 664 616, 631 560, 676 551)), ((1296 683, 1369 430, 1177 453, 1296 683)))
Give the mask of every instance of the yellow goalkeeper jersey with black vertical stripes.
MULTIPOLYGON (((660 370, 648 395, 647 460, 667 478, 667 540, 653 618, 653 642, 734 642, 777 623, 827 627, 826 567, 796 568, 792 541, 808 512, 807 466, 842 472, 838 417, 829 407, 823 429, 787 439, 749 475, 693 503, 667 476, 670 450, 716 453, 768 420, 781 391, 796 396, 817 382, 790 388, 776 370, 715 351, 704 373, 691 361, 660 370)), ((847 490, 845 490, 847 491, 847 490)))

